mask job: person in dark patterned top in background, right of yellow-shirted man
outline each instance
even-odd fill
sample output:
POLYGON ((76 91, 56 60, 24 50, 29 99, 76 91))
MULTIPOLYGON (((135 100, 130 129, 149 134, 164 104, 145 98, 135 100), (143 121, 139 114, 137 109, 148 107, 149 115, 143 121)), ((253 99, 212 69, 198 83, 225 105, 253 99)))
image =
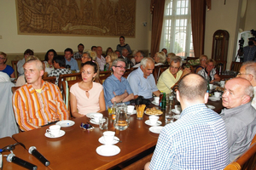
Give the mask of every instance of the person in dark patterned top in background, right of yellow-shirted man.
POLYGON ((202 69, 201 71, 198 71, 197 74, 201 75, 202 77, 205 77, 205 79, 208 82, 219 82, 220 77, 218 76, 216 70, 215 70, 215 61, 213 59, 207 60, 207 67, 205 69, 202 69))

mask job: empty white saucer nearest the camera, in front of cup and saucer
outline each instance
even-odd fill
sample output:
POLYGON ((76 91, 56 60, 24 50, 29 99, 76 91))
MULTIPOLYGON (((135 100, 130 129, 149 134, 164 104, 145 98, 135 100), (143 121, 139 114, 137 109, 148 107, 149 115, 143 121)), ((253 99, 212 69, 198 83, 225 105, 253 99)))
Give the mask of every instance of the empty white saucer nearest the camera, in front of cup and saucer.
POLYGON ((96 149, 97 154, 100 156, 115 156, 119 154, 120 149, 116 145, 103 144, 96 149))

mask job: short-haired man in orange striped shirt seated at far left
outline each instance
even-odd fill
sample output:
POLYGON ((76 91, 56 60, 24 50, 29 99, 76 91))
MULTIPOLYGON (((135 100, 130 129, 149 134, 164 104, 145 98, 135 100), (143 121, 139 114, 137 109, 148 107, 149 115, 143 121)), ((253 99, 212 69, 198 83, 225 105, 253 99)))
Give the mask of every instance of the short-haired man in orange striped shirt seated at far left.
POLYGON ((20 129, 28 131, 50 122, 69 119, 60 89, 42 80, 42 62, 31 59, 23 67, 27 83, 13 95, 15 118, 20 129))

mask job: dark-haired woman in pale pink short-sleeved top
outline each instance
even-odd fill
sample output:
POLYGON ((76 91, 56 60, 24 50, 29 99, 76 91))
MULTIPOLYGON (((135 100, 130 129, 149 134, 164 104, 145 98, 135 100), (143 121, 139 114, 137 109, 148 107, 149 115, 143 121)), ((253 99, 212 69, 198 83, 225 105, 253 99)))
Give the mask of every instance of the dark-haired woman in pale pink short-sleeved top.
POLYGON ((102 84, 93 82, 98 67, 94 61, 87 61, 81 69, 82 82, 70 88, 72 116, 80 117, 91 112, 105 111, 105 99, 102 84))

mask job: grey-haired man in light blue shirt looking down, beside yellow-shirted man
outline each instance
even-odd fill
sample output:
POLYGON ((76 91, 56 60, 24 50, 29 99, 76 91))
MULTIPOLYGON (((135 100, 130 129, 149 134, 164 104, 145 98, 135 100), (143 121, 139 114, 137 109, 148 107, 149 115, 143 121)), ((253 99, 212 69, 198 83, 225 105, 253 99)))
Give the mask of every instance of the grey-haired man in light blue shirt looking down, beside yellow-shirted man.
POLYGON ((152 72, 154 70, 154 59, 145 57, 141 61, 141 66, 135 71, 131 71, 128 82, 134 94, 134 99, 143 96, 145 99, 152 98, 152 94, 159 96, 152 72))

